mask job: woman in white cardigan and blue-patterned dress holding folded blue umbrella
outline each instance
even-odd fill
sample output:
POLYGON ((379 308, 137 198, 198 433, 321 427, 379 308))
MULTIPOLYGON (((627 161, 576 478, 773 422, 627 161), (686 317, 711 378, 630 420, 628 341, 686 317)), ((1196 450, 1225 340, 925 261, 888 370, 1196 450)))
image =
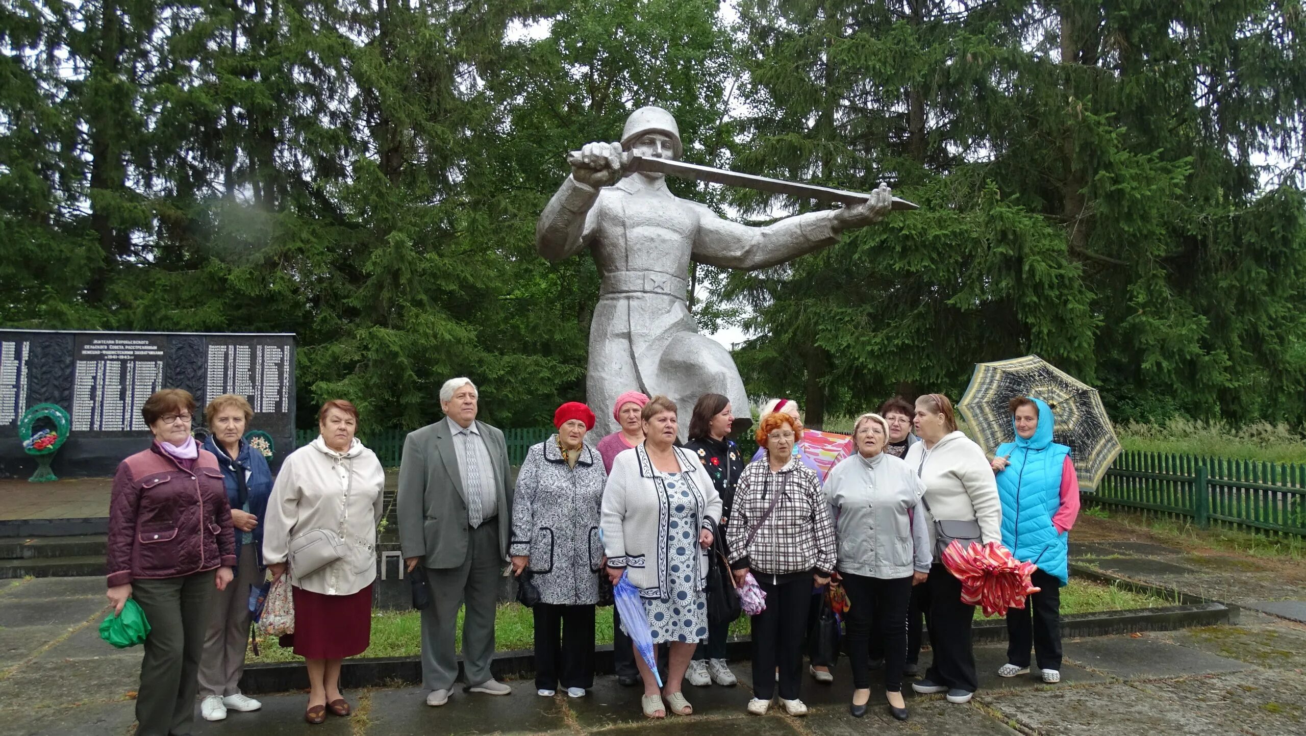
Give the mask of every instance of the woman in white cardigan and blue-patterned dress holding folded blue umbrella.
POLYGON ((641 706, 649 718, 665 718, 667 710, 693 713, 680 685, 693 650, 708 636, 704 551, 721 521, 721 496, 712 476, 695 453, 675 446, 675 402, 666 397, 653 397, 644 406, 644 441, 613 461, 599 522, 613 583, 627 574, 644 599, 653 643, 670 645, 661 693, 644 658, 635 656, 644 679, 641 706))

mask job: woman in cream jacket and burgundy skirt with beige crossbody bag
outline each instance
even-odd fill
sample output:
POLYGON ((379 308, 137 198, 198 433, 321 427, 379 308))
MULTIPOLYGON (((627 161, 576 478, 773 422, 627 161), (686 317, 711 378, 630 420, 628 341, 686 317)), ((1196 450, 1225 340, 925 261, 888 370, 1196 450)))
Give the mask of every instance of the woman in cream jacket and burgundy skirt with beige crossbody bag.
POLYGON ((328 709, 350 714, 340 694, 340 663, 371 641, 376 523, 385 485, 376 454, 354 437, 354 405, 326 402, 317 427, 321 435, 281 463, 263 535, 263 559, 273 577, 287 574, 289 564, 295 633, 282 637, 281 646, 293 646, 308 667, 308 723, 325 720, 328 709), (323 530, 342 543, 343 555, 325 564, 303 547, 325 536, 323 530))

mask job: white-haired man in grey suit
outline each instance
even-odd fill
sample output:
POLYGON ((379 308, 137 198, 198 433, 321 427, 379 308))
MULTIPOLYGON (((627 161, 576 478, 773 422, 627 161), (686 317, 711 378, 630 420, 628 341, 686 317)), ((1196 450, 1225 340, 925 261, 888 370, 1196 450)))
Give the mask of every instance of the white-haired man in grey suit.
POLYGON ((426 569, 431 606, 422 609, 426 705, 441 706, 458 675, 453 654, 458 603, 466 603, 462 666, 473 693, 507 696, 490 673, 499 577, 512 535, 508 445, 477 422, 477 388, 451 378, 440 389, 445 418, 410 432, 400 461, 397 514, 404 561, 426 569))

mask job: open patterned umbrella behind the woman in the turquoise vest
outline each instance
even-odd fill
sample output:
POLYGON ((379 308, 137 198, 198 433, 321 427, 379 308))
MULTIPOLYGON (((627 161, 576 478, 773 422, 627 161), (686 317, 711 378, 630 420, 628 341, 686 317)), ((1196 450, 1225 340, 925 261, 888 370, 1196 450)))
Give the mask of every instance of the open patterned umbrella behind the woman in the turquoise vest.
POLYGON ((1096 489, 1121 454, 1121 441, 1097 389, 1037 355, 977 363, 957 408, 985 452, 993 453, 998 445, 1015 440, 1007 402, 1016 397, 1047 402, 1057 418, 1053 440, 1070 446, 1080 489, 1096 489))

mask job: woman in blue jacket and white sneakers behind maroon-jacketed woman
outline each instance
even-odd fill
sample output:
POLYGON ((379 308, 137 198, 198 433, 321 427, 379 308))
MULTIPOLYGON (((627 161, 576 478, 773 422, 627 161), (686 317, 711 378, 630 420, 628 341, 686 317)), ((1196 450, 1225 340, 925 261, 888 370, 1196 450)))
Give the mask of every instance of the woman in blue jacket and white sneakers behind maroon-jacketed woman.
POLYGON ((263 517, 272 495, 272 471, 263 453, 244 440, 253 408, 239 394, 222 394, 204 408, 209 437, 204 449, 218 458, 231 525, 236 532, 235 578, 215 594, 200 658, 200 715, 222 720, 229 710, 263 707, 240 693, 240 673, 249 643, 249 586, 263 585, 263 517))

